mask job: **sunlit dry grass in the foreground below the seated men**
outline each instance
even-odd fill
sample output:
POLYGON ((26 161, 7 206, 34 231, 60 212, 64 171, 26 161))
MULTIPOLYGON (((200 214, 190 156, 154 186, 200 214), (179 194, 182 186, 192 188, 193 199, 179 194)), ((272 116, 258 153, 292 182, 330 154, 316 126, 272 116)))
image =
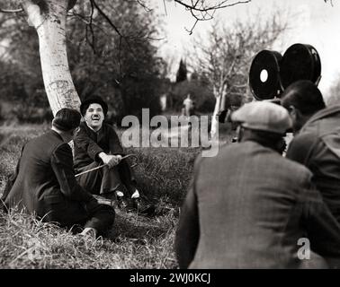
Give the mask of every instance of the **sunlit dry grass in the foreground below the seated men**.
MULTIPOLYGON (((135 217, 135 216, 133 216, 135 217)), ((131 222, 117 216, 108 238, 84 239, 31 215, 0 213, 2 268, 175 268, 174 216, 131 222), (164 224, 165 223, 165 224, 164 224)))

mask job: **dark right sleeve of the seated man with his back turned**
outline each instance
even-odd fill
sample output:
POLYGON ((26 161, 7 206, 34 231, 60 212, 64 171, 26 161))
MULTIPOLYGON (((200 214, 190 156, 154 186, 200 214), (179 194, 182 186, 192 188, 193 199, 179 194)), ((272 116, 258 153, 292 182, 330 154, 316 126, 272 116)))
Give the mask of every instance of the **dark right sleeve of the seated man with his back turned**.
POLYGON ((81 202, 94 200, 94 196, 76 182, 72 151, 67 143, 60 144, 52 153, 51 166, 58 179, 61 193, 69 200, 81 202))

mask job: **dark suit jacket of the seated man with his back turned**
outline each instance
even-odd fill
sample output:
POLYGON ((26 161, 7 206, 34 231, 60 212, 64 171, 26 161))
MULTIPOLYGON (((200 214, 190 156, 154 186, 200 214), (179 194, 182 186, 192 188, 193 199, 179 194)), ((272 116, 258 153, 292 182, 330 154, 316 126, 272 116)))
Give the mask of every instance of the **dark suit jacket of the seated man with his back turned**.
POLYGON ((32 139, 22 149, 15 173, 4 190, 5 206, 17 205, 47 221, 62 224, 84 220, 94 197, 76 183, 72 150, 53 130, 32 139))

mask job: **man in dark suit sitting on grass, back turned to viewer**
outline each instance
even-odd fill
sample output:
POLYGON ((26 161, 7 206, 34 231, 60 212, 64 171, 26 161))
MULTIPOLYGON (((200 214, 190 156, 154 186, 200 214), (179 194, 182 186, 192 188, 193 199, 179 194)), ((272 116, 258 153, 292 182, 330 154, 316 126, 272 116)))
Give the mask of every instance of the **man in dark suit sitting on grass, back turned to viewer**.
POLYGON ((112 207, 98 204, 76 182, 72 150, 67 143, 80 118, 75 109, 60 109, 51 130, 24 145, 1 199, 7 209, 17 206, 44 222, 84 226, 83 235, 97 236, 112 226, 115 213, 112 207))

